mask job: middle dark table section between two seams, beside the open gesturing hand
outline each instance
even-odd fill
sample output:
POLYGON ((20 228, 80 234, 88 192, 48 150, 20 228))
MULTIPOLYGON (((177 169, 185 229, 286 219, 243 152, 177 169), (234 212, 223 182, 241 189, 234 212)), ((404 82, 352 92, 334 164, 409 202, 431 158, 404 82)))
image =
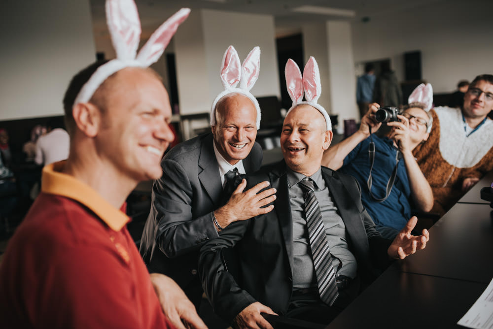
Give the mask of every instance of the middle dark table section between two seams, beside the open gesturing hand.
POLYGON ((488 204, 457 203, 430 230, 426 249, 390 269, 489 283, 493 277, 493 215, 488 204))

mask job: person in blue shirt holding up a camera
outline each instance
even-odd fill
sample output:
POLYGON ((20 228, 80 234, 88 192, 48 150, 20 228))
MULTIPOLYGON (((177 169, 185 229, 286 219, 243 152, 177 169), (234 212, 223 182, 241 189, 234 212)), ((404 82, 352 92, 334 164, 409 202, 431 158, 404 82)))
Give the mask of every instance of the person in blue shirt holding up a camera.
POLYGON ((358 180, 363 205, 376 229, 389 239, 406 225, 412 208, 427 212, 433 205, 431 188, 412 153, 428 138, 431 129, 427 110, 432 92, 427 96, 427 103, 411 102, 397 115, 398 121, 388 122, 384 137, 373 134, 382 123, 375 119, 379 104, 371 104, 359 130, 323 155, 322 165, 358 180))

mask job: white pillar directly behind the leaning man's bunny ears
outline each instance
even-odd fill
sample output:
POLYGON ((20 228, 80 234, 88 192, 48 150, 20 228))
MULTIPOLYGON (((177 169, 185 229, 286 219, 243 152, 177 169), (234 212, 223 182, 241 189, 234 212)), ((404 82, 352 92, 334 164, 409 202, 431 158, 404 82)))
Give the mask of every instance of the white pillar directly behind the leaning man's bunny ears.
POLYGON ((208 113, 224 89, 219 68, 233 45, 243 62, 259 46, 260 75, 251 93, 280 97, 274 18, 217 10, 195 10, 175 36, 180 114, 208 113))

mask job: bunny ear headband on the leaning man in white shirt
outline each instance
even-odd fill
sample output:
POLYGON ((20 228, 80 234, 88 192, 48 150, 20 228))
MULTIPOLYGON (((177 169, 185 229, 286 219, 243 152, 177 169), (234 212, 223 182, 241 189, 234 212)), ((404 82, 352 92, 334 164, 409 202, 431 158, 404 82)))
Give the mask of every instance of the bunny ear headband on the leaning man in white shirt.
POLYGON ((260 128, 260 106, 257 99, 250 93, 250 89, 257 81, 260 73, 260 48, 253 48, 246 56, 243 65, 240 65, 240 58, 235 47, 229 46, 222 58, 219 75, 221 77, 224 90, 217 95, 211 106, 211 126, 215 126, 215 107, 219 99, 232 93, 238 93, 248 97, 257 109, 257 130, 260 128), (237 88, 238 82, 240 87, 237 88))

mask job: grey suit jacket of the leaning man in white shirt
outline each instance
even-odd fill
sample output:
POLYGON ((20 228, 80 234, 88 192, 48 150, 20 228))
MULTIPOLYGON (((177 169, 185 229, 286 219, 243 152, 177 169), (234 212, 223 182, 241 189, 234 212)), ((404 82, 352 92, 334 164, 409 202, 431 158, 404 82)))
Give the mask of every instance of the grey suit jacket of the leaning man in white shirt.
MULTIPOLYGON (((198 251, 205 241, 218 236, 212 211, 220 206, 222 197, 212 143, 211 133, 201 135, 176 145, 163 158, 163 176, 152 187, 152 205, 140 247, 150 272, 172 277, 185 292, 188 286, 197 285, 197 294, 201 294, 198 251)), ((261 163, 262 149, 255 143, 243 165, 249 173, 261 163)))

